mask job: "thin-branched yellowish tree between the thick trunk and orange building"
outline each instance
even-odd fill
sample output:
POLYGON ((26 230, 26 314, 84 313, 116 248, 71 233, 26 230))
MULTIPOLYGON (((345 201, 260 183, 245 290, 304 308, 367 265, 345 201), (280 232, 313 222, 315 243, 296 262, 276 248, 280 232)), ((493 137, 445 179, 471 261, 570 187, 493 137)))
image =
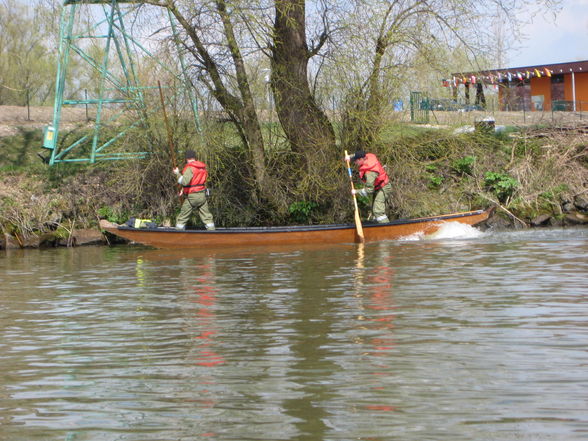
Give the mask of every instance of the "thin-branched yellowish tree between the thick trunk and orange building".
MULTIPOLYGON (((447 68, 452 51, 469 58, 462 68, 487 68, 496 56, 496 21, 513 37, 522 16, 540 8, 557 10, 558 0, 355 0, 346 11, 346 31, 340 48, 343 59, 354 54, 357 76, 349 87, 348 142, 369 146, 377 138, 383 107, 394 92, 390 75, 402 77, 413 61, 428 62, 428 70, 447 68), (441 59, 440 54, 445 54, 441 59), (402 67, 402 70, 399 69, 402 67)), ((500 41, 504 44, 504 40, 500 41)), ((503 46, 503 50, 506 47, 503 46)), ((346 74, 349 75, 349 64, 346 74)), ((421 63, 422 66, 422 63, 421 63)), ((418 75, 412 71, 411 75, 418 75)), ((410 78, 405 76, 405 78, 410 78)))

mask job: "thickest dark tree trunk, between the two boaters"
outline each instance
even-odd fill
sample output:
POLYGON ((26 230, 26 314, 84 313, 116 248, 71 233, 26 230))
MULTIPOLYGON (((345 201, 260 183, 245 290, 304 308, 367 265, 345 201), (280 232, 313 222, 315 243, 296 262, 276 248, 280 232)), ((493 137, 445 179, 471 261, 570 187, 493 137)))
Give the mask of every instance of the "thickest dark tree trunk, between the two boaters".
POLYGON ((292 150, 306 159, 309 173, 321 173, 335 155, 335 133, 308 83, 305 0, 276 0, 272 91, 276 112, 292 150))

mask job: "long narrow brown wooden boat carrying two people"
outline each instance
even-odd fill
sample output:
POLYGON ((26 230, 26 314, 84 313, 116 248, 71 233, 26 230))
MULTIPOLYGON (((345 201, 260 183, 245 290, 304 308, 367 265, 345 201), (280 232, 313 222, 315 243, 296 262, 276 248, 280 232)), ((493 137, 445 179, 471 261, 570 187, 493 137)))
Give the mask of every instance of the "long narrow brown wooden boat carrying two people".
MULTIPOLYGON (((467 211, 417 219, 398 219, 386 224, 365 223, 363 233, 366 242, 400 239, 413 234, 433 234, 447 222, 476 225, 491 215, 488 210, 467 211)), ((217 228, 176 230, 170 227, 133 228, 100 221, 109 233, 156 248, 207 248, 268 246, 288 244, 335 244, 358 242, 354 224, 296 225, 287 227, 217 228)))

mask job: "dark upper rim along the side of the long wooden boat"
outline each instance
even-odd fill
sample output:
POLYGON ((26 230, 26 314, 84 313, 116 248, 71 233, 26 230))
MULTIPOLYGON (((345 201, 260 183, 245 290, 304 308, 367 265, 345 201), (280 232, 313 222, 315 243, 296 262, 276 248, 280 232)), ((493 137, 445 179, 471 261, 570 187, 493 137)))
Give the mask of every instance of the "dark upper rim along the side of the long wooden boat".
MULTIPOLYGON (((491 210, 491 209, 490 209, 491 210)), ((459 219, 463 217, 479 216, 489 210, 466 211, 462 213, 452 213, 440 216, 422 217, 414 219, 396 219, 384 224, 364 223, 363 228, 385 228, 387 226, 416 224, 424 222, 446 221, 459 219)), ((236 228, 217 228, 215 230, 178 230, 174 227, 157 227, 157 228, 134 228, 126 225, 118 225, 117 230, 134 231, 140 233, 181 233, 181 234, 259 234, 259 233, 296 233, 296 232, 321 232, 333 230, 346 230, 355 228, 354 224, 325 224, 325 225, 291 225, 283 227, 236 227, 236 228)))

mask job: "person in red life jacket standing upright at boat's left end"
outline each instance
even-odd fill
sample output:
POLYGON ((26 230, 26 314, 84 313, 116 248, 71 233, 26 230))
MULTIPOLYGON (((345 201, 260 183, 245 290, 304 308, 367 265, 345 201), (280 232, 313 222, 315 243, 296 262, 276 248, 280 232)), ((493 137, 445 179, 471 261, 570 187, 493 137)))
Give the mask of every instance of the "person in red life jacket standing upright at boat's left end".
POLYGON ((198 210, 200 219, 207 230, 214 230, 214 219, 208 209, 206 198, 206 164, 196 160, 196 153, 193 150, 186 151, 186 166, 180 173, 179 168, 174 168, 173 172, 178 177, 178 184, 182 186, 180 194, 185 196, 184 203, 180 209, 180 214, 176 220, 178 230, 186 229, 186 224, 190 220, 192 213, 198 210))

